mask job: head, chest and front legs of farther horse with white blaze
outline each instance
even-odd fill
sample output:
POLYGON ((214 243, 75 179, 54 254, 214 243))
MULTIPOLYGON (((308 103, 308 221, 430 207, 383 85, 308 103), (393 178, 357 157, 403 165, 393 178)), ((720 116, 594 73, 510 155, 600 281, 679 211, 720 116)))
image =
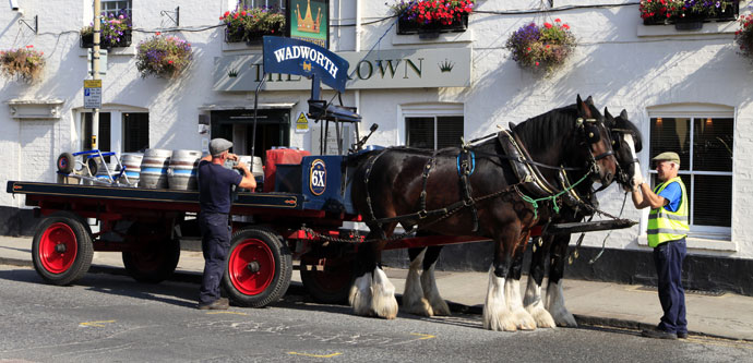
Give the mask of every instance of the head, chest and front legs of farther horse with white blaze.
MULTIPOLYGON (((605 108, 607 126, 611 132, 612 148, 618 161, 617 182, 625 190, 631 189, 631 180, 636 173, 641 172, 637 153, 643 148, 642 135, 637 126, 629 119, 628 112, 622 110, 620 116, 612 118, 605 108)), ((578 194, 584 199, 591 201, 590 204, 598 206, 590 190, 590 184, 581 184, 576 187, 578 194)), ((552 222, 576 222, 593 215, 594 210, 587 207, 572 208, 564 206, 560 213, 552 218, 552 222)), ((564 275, 567 245, 570 234, 554 234, 543 237, 541 245, 533 252, 528 286, 524 294, 523 304, 539 327, 576 326, 575 318, 564 305, 562 289, 562 277, 564 275), (549 258, 547 258, 549 256, 549 258), (541 286, 543 281, 546 264, 549 262, 549 279, 547 285, 546 299, 542 300, 541 286)), ((535 245, 535 244, 534 244, 535 245)))

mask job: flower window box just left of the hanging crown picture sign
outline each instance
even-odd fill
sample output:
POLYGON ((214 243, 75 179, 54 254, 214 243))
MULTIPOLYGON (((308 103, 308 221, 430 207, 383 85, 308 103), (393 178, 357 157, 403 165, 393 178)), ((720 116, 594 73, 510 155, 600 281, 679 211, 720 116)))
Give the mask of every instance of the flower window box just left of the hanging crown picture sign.
POLYGON ((219 16, 226 25, 225 41, 246 41, 248 45, 261 45, 265 35, 282 36, 285 33, 285 14, 273 8, 243 7, 219 16))

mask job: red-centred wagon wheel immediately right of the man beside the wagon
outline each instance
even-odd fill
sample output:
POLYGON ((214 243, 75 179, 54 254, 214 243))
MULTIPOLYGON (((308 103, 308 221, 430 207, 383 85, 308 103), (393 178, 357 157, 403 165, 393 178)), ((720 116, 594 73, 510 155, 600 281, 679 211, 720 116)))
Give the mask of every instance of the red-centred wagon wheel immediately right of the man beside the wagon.
POLYGON ((290 286, 292 257, 276 232, 251 227, 230 241, 223 287, 239 305, 262 307, 279 300, 290 286))

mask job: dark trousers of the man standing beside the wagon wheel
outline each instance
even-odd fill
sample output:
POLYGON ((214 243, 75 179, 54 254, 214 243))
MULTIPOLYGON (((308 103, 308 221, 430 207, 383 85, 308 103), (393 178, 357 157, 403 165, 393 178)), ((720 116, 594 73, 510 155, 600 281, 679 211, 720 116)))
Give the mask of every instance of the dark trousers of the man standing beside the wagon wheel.
POLYGON ((219 299, 219 281, 225 273, 225 257, 230 250, 230 226, 226 214, 199 214, 201 249, 204 253, 204 276, 199 290, 199 303, 219 299))

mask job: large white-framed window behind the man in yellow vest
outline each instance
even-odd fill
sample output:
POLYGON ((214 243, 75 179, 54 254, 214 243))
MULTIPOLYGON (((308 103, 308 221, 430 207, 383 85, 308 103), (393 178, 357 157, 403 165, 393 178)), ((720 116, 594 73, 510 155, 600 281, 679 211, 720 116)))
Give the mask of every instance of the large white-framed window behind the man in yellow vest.
MULTIPOLYGON (((729 237, 732 222, 734 117, 731 108, 686 106, 649 111, 649 158, 680 155, 679 177, 690 199, 691 235, 729 237)), ((649 166, 652 185, 656 170, 649 166)))

